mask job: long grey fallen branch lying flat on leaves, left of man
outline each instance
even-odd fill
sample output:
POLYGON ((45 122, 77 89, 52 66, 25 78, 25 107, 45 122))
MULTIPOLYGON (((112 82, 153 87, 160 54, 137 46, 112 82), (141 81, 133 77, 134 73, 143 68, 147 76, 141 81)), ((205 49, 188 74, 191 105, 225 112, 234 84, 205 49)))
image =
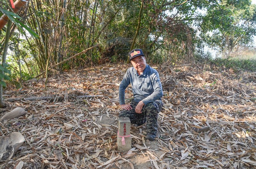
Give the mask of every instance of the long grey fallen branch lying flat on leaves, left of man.
MULTIPOLYGON (((20 101, 20 100, 28 100, 28 101, 32 101, 32 100, 50 100, 50 99, 54 99, 56 98, 56 96, 58 95, 54 95, 54 96, 42 96, 42 97, 27 97, 27 98, 10 98, 10 99, 4 99, 4 101, 20 101)), ((59 95, 61 96, 61 95, 59 95)), ((82 95, 82 96, 72 96, 75 98, 93 98, 93 97, 103 97, 102 95, 82 95)))

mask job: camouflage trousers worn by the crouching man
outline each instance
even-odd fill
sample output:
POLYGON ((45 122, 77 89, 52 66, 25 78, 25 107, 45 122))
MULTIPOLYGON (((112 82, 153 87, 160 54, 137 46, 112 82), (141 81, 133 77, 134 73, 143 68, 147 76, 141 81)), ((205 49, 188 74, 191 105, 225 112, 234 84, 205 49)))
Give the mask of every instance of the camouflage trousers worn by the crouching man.
POLYGON ((138 103, 132 99, 132 110, 122 110, 119 113, 119 117, 129 117, 132 124, 141 125, 147 121, 147 133, 156 135, 157 117, 163 107, 163 102, 161 100, 156 100, 153 103, 148 103, 146 106, 144 105, 142 107, 141 114, 135 112, 137 104, 138 103))

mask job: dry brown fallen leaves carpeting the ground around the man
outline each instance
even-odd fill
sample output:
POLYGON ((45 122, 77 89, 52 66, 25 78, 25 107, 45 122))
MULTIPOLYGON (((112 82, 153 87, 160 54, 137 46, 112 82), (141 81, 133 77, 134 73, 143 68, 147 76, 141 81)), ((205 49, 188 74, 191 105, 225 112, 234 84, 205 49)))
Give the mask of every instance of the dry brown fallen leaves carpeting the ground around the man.
MULTIPOLYGON (((118 86, 130 66, 106 64, 58 74, 46 88, 42 79, 21 92, 6 89, 0 115, 15 107, 27 114, 2 122, 0 135, 18 131, 25 142, 0 168, 256 168, 256 73, 205 65, 156 68, 164 90, 159 137, 145 140, 146 127, 132 126, 132 149, 117 151, 118 86)), ((129 86, 126 102, 131 98, 129 86)))

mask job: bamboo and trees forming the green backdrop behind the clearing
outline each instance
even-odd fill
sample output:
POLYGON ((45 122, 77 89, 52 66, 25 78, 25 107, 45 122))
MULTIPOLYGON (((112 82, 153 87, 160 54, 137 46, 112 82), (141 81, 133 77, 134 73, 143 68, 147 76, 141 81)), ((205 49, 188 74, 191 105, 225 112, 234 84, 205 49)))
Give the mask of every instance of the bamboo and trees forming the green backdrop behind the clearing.
MULTIPOLYGON (((0 8, 11 10, 11 5, 4 0, 0 8)), ((125 61, 131 47, 142 48, 152 62, 191 62, 205 44, 220 50, 250 44, 256 29, 255 5, 248 0, 29 0, 18 15, 38 34, 11 27, 7 63, 13 76, 19 75, 20 65, 26 78, 46 67, 55 71, 53 65, 95 44, 100 46, 57 69, 125 61), (241 18, 244 27, 237 22, 241 18), (241 40, 232 44, 236 37, 241 40)), ((5 32, 6 27, 0 32, 1 53, 5 32)))

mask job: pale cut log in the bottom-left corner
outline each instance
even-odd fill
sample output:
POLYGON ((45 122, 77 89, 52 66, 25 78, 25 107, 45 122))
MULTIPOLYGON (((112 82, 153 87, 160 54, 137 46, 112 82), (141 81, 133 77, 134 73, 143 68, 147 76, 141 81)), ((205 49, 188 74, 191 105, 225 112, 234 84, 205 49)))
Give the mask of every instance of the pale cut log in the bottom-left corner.
POLYGON ((11 135, 0 138, 0 161, 12 158, 13 154, 24 143, 25 138, 20 132, 13 132, 11 135))

